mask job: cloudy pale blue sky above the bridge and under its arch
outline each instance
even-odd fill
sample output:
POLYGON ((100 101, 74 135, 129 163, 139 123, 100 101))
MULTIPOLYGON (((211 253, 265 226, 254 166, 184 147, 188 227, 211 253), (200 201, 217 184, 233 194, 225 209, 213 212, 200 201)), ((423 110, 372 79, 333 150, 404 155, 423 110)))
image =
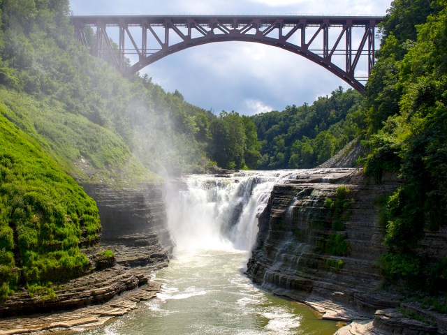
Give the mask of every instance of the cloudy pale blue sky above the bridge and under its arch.
MULTIPOLYGON (((386 15, 391 0, 70 0, 74 15, 386 15)), ((113 38, 113 37, 112 37, 113 38)), ((376 43, 378 45, 378 43, 376 43)), ((193 105, 253 115, 312 104, 339 77, 297 54, 259 43, 210 43, 140 70, 193 105)))

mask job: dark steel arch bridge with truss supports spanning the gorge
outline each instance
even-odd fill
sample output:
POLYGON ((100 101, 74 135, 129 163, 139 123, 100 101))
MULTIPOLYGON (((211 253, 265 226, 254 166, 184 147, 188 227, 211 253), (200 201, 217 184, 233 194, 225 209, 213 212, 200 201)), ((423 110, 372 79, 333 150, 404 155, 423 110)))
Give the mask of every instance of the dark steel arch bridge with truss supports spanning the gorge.
POLYGON ((375 59, 375 31, 383 17, 364 16, 72 16, 78 39, 124 74, 197 45, 256 42, 288 50, 323 66, 357 91, 375 59), (96 29, 89 38, 85 27, 96 29), (115 29, 115 33, 112 33, 115 29), (110 36, 116 34, 118 45, 110 36), (137 43, 138 40, 138 43, 137 43), (135 57, 136 56, 136 57, 135 57), (136 59, 129 64, 129 59, 136 59), (361 70, 359 61, 365 62, 361 70))

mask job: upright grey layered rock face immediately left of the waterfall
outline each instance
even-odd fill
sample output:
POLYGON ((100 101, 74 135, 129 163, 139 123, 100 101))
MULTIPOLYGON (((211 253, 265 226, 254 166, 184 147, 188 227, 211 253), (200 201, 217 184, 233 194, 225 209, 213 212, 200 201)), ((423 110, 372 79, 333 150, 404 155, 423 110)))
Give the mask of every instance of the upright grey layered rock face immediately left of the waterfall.
POLYGON ((118 264, 153 269, 168 265, 174 246, 162 185, 122 189, 84 185, 84 189, 99 209, 101 245, 117 253, 118 264))

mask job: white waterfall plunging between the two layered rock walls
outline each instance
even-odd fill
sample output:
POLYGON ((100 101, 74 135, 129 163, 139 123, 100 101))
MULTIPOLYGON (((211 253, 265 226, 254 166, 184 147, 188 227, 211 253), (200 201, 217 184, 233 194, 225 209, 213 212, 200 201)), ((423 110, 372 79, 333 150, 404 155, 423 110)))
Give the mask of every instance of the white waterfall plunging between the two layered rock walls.
POLYGON ((265 208, 274 184, 292 173, 193 174, 171 183, 166 206, 175 252, 228 248, 251 251, 258 233, 258 214, 265 208))

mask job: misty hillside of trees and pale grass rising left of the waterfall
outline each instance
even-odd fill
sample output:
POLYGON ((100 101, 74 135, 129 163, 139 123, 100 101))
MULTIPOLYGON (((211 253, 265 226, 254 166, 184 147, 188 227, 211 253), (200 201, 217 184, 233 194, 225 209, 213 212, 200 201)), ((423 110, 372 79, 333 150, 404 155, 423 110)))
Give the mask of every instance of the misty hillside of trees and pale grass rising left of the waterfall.
POLYGON ((186 103, 178 91, 167 94, 147 76, 127 80, 91 57, 68 24, 68 1, 20 1, 33 4, 33 10, 14 1, 3 5, 8 14, 0 83, 31 94, 35 108, 16 106, 26 95, 10 92, 8 119, 82 181, 121 186, 159 181, 148 169, 202 170, 209 161, 212 113, 186 103))

